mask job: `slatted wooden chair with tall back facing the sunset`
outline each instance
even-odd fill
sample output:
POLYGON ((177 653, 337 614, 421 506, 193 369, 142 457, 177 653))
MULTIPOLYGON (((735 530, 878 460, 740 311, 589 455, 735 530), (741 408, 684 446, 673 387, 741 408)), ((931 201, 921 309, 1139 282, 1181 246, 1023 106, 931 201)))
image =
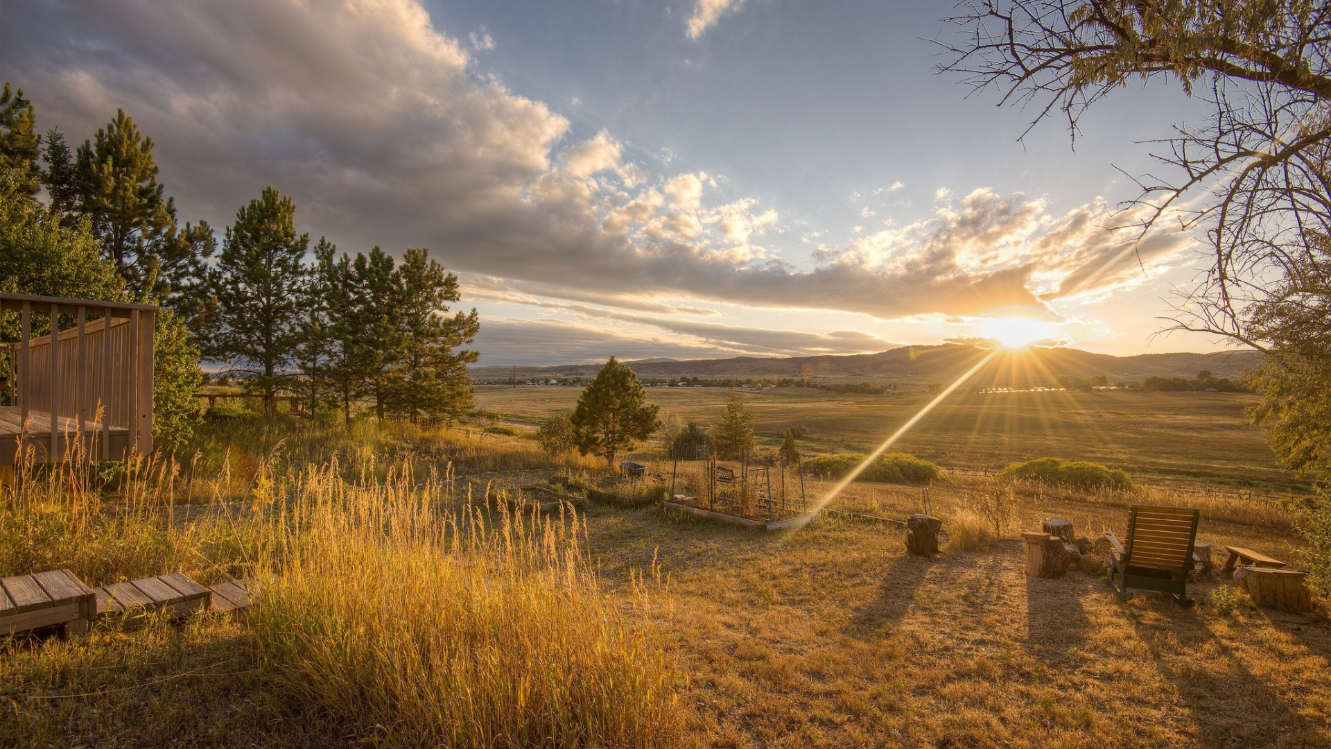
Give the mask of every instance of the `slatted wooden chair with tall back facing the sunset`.
POLYGON ((1113 532, 1106 532, 1114 550, 1109 584, 1123 601, 1133 597, 1129 588, 1161 590, 1178 605, 1191 608, 1187 597, 1187 573, 1193 569, 1193 546, 1201 510, 1133 505, 1127 524, 1127 548, 1113 532))

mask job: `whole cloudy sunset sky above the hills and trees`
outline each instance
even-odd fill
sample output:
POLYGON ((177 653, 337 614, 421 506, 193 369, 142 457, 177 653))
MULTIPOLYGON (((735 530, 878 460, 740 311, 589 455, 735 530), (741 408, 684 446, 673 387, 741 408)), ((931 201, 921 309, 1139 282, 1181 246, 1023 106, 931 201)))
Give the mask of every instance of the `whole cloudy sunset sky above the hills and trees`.
POLYGON ((480 313, 480 365, 1005 333, 1219 349, 1162 333, 1206 267, 1195 237, 1115 231, 1147 141, 1203 103, 1130 85, 1075 148, 1058 120, 1026 132, 1034 112, 937 72, 953 11, 0 0, 0 77, 72 143, 125 109, 178 217, 218 239, 273 185, 339 251, 430 248, 480 313))

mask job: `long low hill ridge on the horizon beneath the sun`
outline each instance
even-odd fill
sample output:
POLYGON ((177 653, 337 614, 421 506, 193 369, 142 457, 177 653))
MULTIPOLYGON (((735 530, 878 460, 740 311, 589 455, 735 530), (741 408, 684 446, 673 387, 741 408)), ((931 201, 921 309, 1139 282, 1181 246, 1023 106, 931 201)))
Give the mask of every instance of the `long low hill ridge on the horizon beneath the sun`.
MULTIPOLYGON (((841 382, 900 382, 926 385, 950 382, 989 352, 970 345, 942 344, 901 347, 881 353, 851 356, 696 359, 685 361, 644 360, 628 365, 639 377, 817 377, 841 382)), ((1202 369, 1215 377, 1235 377, 1254 367, 1258 355, 1251 351, 1217 353, 1143 353, 1109 356, 1073 348, 1032 349, 1022 353, 998 353, 998 359, 976 376, 973 386, 1049 385, 1059 376, 1105 376, 1110 382, 1142 381, 1146 377, 1195 377, 1202 369)), ((564 364, 555 367, 518 367, 519 380, 539 377, 590 377, 600 364, 564 364)), ((478 380, 507 378, 512 367, 474 367, 478 380)))

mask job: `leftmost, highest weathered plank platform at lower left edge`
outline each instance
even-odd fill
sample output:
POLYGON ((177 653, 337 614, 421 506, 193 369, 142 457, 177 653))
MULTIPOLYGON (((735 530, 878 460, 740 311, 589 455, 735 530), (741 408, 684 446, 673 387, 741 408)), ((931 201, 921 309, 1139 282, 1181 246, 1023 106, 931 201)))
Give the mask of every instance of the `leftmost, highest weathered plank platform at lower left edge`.
POLYGON ((0 580, 0 634, 61 625, 87 632, 96 616, 96 594, 68 569, 0 580))

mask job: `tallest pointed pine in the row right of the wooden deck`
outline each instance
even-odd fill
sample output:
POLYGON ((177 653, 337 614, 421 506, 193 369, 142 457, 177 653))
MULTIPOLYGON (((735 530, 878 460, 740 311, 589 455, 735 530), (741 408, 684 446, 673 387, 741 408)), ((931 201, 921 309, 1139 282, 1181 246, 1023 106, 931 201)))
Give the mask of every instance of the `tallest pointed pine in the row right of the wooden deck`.
POLYGON ((249 377, 270 414, 301 343, 309 243, 295 233, 295 204, 269 185, 236 212, 217 259, 217 325, 205 352, 249 377))

